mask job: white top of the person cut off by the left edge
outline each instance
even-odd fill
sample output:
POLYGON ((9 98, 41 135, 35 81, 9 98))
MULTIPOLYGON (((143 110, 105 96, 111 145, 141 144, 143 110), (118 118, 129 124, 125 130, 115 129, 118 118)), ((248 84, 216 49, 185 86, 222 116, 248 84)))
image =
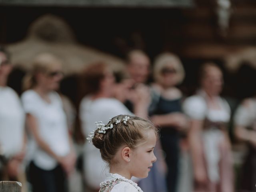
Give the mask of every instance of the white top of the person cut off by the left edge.
POLYGON ((0 86, 0 148, 11 157, 22 148, 25 114, 20 99, 10 87, 0 86))

